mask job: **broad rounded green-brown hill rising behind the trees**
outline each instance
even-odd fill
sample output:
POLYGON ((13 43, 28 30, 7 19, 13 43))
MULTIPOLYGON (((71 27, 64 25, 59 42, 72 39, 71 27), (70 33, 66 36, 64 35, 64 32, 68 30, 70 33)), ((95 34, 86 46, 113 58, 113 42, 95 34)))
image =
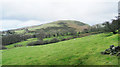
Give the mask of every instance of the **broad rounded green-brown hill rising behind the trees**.
POLYGON ((85 24, 80 21, 75 21, 75 20, 59 20, 43 25, 38 25, 38 26, 30 26, 26 28, 20 28, 16 29, 16 33, 25 33, 25 29, 28 29, 29 31, 32 32, 37 32, 39 30, 44 30, 47 32, 60 32, 60 31, 68 31, 68 30, 74 30, 74 31, 83 31, 84 29, 88 29, 89 25, 85 24))

